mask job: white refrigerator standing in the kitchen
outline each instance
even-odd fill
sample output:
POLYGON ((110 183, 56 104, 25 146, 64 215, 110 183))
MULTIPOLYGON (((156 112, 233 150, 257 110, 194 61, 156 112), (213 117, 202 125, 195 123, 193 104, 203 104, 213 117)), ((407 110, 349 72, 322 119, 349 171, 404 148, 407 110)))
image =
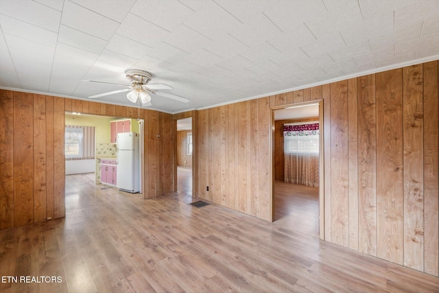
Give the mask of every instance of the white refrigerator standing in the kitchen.
POLYGON ((117 134, 117 181, 121 191, 140 191, 139 135, 136 132, 117 134))

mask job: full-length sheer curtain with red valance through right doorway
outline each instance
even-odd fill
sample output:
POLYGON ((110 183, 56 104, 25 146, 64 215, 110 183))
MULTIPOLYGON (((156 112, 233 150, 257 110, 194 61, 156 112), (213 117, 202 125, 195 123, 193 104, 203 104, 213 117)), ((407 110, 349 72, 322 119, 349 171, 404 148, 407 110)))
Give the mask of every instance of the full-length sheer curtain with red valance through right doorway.
POLYGON ((318 187, 318 121, 284 124, 285 182, 318 187))

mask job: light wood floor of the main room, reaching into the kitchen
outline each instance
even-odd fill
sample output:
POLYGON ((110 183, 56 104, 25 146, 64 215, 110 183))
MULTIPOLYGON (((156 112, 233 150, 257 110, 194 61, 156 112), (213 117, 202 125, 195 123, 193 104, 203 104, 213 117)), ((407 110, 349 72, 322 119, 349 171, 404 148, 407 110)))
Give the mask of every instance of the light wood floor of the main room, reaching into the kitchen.
POLYGON ((187 195, 67 176, 65 219, 0 231, 1 292, 438 292, 439 279, 187 195), (189 201, 190 202, 190 201, 189 201))

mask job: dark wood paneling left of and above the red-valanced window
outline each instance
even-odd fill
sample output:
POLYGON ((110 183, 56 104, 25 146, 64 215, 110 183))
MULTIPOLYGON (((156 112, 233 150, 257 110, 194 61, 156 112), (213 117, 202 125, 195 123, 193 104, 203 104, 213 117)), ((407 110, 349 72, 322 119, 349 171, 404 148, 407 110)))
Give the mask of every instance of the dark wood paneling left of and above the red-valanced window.
POLYGON ((285 180, 285 152, 283 145, 283 125, 287 123, 319 121, 318 117, 274 121, 274 180, 285 180))

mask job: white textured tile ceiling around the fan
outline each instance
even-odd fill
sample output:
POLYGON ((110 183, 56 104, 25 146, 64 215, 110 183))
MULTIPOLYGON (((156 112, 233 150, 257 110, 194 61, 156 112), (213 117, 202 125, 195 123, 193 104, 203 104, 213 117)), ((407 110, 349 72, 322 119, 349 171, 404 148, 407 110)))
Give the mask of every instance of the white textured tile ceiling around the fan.
MULTIPOLYGON (((143 69, 168 113, 439 55, 439 0, 0 0, 0 87, 88 99, 143 69)), ((126 93, 100 102, 134 106, 126 93)))

